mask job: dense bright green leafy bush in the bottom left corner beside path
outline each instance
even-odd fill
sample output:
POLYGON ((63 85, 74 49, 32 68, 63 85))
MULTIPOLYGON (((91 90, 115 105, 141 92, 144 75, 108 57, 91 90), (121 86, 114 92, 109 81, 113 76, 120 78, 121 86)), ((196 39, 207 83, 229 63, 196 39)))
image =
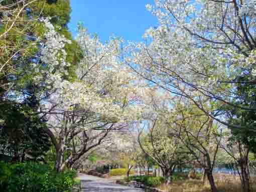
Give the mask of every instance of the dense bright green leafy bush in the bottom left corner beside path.
POLYGON ((56 173, 39 163, 0 162, 0 191, 66 192, 74 184, 75 171, 56 173))

